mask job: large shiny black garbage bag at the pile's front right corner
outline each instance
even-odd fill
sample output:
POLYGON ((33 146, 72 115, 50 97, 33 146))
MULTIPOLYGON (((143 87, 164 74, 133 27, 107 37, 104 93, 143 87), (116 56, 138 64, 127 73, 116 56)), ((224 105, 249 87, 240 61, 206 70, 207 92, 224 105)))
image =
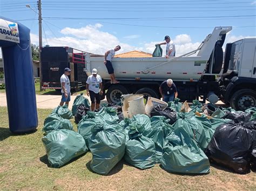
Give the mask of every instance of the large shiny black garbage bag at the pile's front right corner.
POLYGON ((252 147, 253 132, 231 121, 216 128, 205 153, 212 161, 246 174, 250 172, 252 147))

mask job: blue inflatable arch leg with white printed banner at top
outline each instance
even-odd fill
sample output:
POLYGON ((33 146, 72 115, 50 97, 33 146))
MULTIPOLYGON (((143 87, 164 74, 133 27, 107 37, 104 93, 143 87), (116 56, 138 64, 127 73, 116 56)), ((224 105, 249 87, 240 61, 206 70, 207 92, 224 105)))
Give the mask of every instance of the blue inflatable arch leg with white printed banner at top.
POLYGON ((13 133, 34 131, 38 125, 36 91, 30 46, 30 29, 0 17, 9 128, 13 133))

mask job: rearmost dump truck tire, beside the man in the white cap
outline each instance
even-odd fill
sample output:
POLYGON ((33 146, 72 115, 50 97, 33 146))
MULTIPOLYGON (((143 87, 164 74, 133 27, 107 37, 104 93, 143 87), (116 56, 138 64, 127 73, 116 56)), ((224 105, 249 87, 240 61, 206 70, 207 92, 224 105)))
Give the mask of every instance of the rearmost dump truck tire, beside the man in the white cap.
POLYGON ((128 91, 124 86, 112 85, 109 87, 106 93, 106 98, 108 103, 118 103, 121 100, 121 95, 127 94, 128 91))

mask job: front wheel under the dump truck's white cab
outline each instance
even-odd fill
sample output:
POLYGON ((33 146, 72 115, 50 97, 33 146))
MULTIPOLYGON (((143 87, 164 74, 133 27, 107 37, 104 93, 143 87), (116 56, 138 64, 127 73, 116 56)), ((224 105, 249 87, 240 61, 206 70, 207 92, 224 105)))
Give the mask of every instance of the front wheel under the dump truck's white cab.
POLYGON ((256 92, 250 89, 242 89, 235 92, 230 100, 230 105, 235 110, 245 111, 256 106, 256 92))

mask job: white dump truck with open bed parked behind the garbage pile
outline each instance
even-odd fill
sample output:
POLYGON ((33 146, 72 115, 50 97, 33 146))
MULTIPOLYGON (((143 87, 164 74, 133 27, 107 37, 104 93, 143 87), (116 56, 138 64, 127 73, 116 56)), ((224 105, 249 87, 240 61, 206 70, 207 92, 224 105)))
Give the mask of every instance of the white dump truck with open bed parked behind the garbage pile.
MULTIPOLYGON (((232 26, 217 26, 198 49, 179 57, 113 58, 119 84, 111 84, 104 58, 85 54, 87 76, 96 68, 103 78, 109 103, 117 103, 122 94, 137 93, 160 98, 159 86, 173 79, 181 100, 222 100, 235 110, 256 106, 256 37, 247 37, 226 45, 226 33, 232 26)), ((105 95, 105 94, 104 94, 105 95)))

